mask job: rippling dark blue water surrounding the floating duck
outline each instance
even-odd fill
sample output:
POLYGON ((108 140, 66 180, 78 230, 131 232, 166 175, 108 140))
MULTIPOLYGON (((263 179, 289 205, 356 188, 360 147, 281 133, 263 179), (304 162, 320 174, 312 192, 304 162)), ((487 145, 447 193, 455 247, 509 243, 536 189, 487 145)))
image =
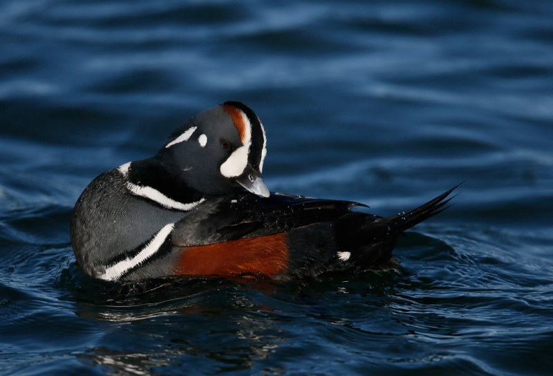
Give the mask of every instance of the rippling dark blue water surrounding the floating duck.
POLYGON ((552 1, 0 2, 2 375, 553 374, 552 1), (226 100, 272 191, 412 209, 401 266, 122 298, 75 265, 97 174, 226 100))

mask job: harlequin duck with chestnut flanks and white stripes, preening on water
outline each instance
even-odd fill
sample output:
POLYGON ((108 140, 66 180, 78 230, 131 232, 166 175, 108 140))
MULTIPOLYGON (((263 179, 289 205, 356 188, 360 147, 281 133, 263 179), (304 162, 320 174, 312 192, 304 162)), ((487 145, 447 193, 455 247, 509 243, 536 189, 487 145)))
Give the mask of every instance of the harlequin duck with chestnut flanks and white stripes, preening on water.
POLYGON ((164 276, 303 279, 385 265, 406 229, 441 212, 453 189, 406 214, 270 193, 263 124, 240 102, 190 118, 156 156, 95 178, 77 200, 71 243, 95 279, 164 276))

